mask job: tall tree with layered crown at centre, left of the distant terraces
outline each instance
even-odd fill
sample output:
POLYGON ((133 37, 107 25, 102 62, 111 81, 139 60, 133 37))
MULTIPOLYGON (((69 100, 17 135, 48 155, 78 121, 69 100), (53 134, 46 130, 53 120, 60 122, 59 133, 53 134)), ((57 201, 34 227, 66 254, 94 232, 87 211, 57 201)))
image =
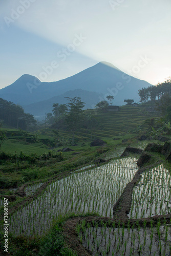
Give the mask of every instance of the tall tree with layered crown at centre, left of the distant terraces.
POLYGON ((67 128, 72 132, 72 145, 74 144, 75 131, 81 127, 84 119, 84 111, 82 110, 85 103, 81 101, 80 97, 65 97, 68 99, 68 110, 66 114, 65 122, 67 128))

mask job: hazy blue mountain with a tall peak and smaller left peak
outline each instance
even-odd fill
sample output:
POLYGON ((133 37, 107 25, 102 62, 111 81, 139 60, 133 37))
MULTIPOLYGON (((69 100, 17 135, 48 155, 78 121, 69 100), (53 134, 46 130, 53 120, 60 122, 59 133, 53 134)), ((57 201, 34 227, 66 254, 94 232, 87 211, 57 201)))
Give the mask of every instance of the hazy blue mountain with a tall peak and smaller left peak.
MULTIPOLYGON (((115 105, 125 104, 124 99, 128 98, 139 101, 138 90, 148 86, 151 84, 123 73, 111 63, 99 62, 93 67, 57 82, 41 82, 34 76, 23 75, 10 86, 1 89, 0 97, 22 105, 25 111, 30 112, 35 106, 38 106, 41 113, 42 111, 47 113, 44 105, 49 105, 48 110, 50 110, 50 102, 54 103, 55 100, 63 103, 65 101, 60 100, 64 98, 62 95, 72 97, 72 91, 77 89, 96 93, 95 98, 91 97, 91 101, 90 94, 86 93, 87 97, 84 97, 84 101, 89 102, 87 108, 92 108, 93 104, 105 99, 108 95, 114 96, 115 105)), ((75 96, 81 94, 81 91, 76 92, 75 96)), ((33 113, 33 111, 31 112, 33 113)), ((34 112, 36 115, 40 113, 34 112)))

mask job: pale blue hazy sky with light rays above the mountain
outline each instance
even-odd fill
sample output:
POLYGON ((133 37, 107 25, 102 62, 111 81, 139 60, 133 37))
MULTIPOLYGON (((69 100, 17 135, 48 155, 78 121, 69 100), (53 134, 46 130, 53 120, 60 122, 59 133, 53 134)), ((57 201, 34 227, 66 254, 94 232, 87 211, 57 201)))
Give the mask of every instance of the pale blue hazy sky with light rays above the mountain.
POLYGON ((152 84, 171 76, 170 0, 1 0, 0 88, 100 61, 152 84))

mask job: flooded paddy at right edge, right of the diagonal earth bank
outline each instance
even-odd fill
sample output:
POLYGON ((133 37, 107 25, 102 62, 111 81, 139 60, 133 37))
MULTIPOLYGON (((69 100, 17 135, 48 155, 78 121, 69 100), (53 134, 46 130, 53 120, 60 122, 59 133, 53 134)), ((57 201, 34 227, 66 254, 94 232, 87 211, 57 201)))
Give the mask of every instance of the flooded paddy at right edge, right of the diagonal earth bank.
POLYGON ((129 218, 147 218, 171 212, 170 174, 163 165, 147 170, 133 189, 129 218))

